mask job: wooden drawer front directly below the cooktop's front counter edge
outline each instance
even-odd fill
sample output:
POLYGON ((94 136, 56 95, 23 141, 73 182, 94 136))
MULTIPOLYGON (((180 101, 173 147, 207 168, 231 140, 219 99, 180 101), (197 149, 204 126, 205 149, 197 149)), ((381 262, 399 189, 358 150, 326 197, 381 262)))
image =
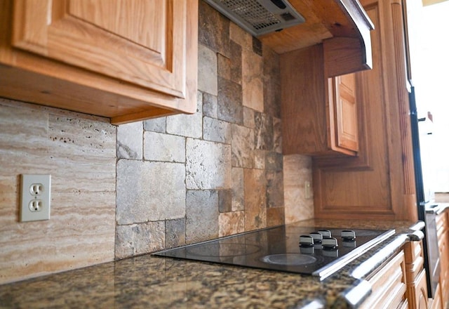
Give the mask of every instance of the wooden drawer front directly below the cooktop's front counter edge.
POLYGON ((406 300, 404 263, 401 251, 368 280, 372 284, 372 292, 361 308, 398 308, 406 300))

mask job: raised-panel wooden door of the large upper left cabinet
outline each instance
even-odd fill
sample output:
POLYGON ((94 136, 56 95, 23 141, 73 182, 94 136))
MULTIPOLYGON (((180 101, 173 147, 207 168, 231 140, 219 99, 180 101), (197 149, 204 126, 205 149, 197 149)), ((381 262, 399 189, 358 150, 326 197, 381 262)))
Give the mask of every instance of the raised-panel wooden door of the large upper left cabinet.
POLYGON ((185 98, 188 1, 18 0, 13 46, 185 98))

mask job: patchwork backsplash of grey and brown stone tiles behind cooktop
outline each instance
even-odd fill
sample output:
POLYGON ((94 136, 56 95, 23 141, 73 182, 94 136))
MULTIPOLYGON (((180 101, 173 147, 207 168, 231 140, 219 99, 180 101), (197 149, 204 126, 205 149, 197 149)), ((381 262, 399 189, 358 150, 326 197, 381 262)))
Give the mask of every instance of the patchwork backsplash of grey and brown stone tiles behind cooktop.
POLYGON ((199 16, 196 114, 118 127, 116 258, 284 222, 278 55, 199 16))

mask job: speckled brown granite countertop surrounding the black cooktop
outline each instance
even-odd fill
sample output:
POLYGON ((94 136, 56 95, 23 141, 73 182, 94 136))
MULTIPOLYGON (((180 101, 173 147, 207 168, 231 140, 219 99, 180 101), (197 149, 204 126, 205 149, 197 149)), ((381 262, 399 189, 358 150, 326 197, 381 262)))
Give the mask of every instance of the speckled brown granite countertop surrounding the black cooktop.
POLYGON ((369 294, 364 279, 408 241, 414 225, 299 224, 394 228, 396 234, 322 282, 307 275, 145 255, 0 285, 0 308, 351 308, 351 302, 356 305, 369 294))

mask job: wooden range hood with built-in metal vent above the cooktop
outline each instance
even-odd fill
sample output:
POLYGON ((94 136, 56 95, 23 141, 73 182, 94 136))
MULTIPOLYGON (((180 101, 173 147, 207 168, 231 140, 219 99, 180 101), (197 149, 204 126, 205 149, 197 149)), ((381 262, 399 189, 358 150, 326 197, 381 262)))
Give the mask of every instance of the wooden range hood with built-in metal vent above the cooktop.
POLYGON ((323 44, 328 77, 372 67, 374 26, 358 0, 204 1, 276 53, 323 44))

